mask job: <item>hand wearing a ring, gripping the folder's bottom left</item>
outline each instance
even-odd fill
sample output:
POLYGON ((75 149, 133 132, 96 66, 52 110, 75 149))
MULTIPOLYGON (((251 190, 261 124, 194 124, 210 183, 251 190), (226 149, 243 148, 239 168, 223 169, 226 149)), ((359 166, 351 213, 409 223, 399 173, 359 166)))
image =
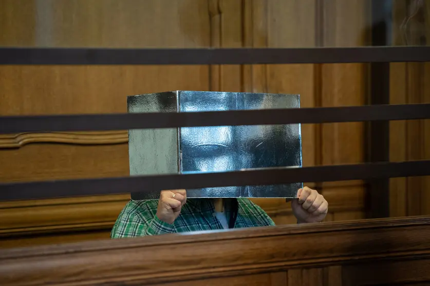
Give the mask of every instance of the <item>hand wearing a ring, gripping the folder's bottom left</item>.
POLYGON ((172 224, 181 213, 185 202, 185 190, 161 191, 156 215, 160 220, 172 224))

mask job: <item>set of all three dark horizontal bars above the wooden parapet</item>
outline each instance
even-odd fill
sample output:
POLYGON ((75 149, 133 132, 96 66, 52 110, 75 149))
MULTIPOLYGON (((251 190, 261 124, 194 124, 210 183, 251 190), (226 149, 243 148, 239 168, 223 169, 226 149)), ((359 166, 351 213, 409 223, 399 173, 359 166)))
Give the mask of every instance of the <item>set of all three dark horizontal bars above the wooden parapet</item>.
MULTIPOLYGON (((430 47, 296 49, 62 49, 2 48, 0 64, 288 64, 430 61, 430 47)), ((245 110, 190 113, 91 114, 0 117, 0 133, 119 130, 193 126, 264 125, 430 118, 430 104, 245 110)), ((6 163, 7 164, 7 163, 6 163)), ((371 162, 307 168, 169 174, 45 182, 1 183, 0 199, 32 199, 223 186, 270 185, 430 175, 430 160, 371 162), (61 190, 60 192, 58 190, 61 190)))

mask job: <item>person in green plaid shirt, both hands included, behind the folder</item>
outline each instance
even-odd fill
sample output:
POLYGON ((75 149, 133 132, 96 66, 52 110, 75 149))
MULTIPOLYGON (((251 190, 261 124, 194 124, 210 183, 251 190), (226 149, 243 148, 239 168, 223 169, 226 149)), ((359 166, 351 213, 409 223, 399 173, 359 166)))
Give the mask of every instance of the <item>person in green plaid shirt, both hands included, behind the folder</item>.
MULTIPOLYGON (((291 202, 297 223, 321 222, 328 203, 308 187, 291 202)), ((161 191, 158 200, 130 200, 111 231, 112 238, 190 231, 274 226, 273 220, 247 198, 186 199, 185 190, 161 191)))

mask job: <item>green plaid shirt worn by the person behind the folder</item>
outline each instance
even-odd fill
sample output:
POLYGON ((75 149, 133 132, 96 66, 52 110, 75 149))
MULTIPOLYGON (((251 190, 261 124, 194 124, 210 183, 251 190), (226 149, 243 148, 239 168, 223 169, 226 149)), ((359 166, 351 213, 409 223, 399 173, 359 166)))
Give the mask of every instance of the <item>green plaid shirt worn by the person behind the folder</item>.
MULTIPOLYGON (((227 218, 231 199, 225 200, 227 218)), ((273 220, 260 207, 247 198, 238 198, 238 212, 234 228, 274 226, 273 220)), ((157 213, 158 200, 130 200, 121 211, 111 238, 160 235, 190 231, 223 229, 216 218, 213 200, 188 199, 173 224, 161 221, 157 213)))

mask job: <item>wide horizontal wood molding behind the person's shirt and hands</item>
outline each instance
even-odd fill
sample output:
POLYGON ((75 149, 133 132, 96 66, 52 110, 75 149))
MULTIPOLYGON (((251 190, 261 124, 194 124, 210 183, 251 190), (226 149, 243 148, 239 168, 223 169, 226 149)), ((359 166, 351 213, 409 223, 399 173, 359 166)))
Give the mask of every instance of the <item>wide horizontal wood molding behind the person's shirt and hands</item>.
MULTIPOLYGON (((364 191, 328 190, 330 212, 363 211, 364 191)), ((108 230, 113 227, 129 194, 0 202, 0 238, 27 234, 108 230)), ((271 217, 292 215, 285 199, 251 199, 271 217)))

